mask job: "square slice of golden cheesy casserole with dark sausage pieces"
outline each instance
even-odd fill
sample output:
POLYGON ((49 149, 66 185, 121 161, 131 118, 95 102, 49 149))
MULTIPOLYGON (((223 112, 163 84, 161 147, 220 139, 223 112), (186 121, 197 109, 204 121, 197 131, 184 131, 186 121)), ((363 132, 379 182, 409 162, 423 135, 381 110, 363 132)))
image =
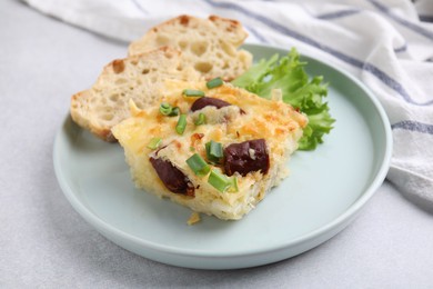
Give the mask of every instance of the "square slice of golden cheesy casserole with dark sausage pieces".
POLYGON ((298 148, 306 117, 281 100, 263 99, 228 83, 208 89, 205 82, 170 82, 161 101, 179 107, 187 114, 182 134, 175 131, 179 117, 165 117, 157 107, 140 110, 134 104, 131 106, 132 117, 112 130, 124 149, 135 186, 197 212, 223 220, 241 219, 288 176, 285 165, 298 148), (204 98, 184 97, 183 89, 202 90, 208 98, 228 104, 201 108, 197 101, 202 102, 204 98), (207 122, 197 126, 194 121, 200 113, 205 116, 207 122), (148 147, 154 138, 161 139, 159 147, 148 147), (220 163, 210 162, 207 157, 205 143, 211 140, 224 148, 220 163), (249 166, 262 165, 254 168, 244 165, 243 168, 250 170, 232 166, 229 148, 258 140, 264 141, 265 149, 259 151, 250 146, 243 157, 249 166), (263 158, 264 151, 268 159, 263 158), (238 190, 219 191, 209 182, 211 172, 197 176, 187 163, 194 153, 207 160, 211 170, 228 175, 231 180, 235 178, 238 190))

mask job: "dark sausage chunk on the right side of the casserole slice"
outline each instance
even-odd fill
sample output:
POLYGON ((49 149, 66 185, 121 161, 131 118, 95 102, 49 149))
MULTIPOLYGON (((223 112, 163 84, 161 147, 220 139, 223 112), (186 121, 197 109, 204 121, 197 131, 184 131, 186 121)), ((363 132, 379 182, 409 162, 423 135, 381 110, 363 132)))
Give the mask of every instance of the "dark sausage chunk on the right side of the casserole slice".
POLYGON ((269 155, 264 139, 232 143, 224 149, 226 176, 232 176, 236 171, 241 176, 246 176, 251 171, 261 171, 265 175, 269 166, 269 155))

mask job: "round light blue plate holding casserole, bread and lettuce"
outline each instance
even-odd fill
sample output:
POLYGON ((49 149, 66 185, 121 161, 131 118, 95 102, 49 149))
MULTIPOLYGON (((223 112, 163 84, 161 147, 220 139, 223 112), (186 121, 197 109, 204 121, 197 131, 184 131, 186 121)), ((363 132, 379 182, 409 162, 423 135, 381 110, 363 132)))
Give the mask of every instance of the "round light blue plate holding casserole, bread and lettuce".
MULTIPOLYGON (((254 59, 284 49, 245 46, 254 59)), ((72 207, 119 246, 160 262, 201 269, 245 268, 306 251, 341 231, 384 180, 392 151, 390 123, 358 80, 312 57, 310 74, 330 83, 336 119, 324 144, 296 152, 285 179, 240 221, 204 216, 137 190, 117 143, 105 143, 68 117, 54 143, 54 168, 72 207)))

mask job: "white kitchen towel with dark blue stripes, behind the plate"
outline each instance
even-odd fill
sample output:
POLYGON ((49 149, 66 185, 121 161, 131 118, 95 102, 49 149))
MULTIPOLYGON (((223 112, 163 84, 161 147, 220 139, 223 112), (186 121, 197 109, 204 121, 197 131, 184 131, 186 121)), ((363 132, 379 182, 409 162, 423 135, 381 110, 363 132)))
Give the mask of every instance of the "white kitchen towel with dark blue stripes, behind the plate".
POLYGON ((26 0, 110 38, 131 41, 189 13, 240 20, 248 42, 296 47, 345 69, 379 98, 392 123, 387 180, 433 211, 432 0, 26 0))

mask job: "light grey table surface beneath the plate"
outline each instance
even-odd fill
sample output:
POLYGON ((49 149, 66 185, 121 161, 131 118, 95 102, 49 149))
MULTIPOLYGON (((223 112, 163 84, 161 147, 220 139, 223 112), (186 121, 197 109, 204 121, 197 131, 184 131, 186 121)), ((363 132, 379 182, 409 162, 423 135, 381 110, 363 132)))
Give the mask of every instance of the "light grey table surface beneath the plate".
POLYGON ((432 288, 433 215, 384 182, 345 230, 278 263, 171 267, 107 240, 69 205, 52 147, 70 96, 124 56, 115 42, 0 1, 0 287, 432 288))

